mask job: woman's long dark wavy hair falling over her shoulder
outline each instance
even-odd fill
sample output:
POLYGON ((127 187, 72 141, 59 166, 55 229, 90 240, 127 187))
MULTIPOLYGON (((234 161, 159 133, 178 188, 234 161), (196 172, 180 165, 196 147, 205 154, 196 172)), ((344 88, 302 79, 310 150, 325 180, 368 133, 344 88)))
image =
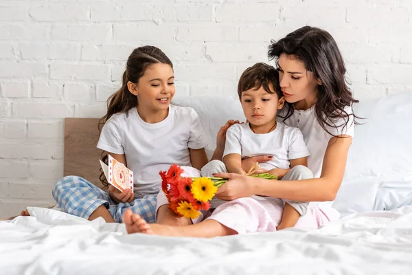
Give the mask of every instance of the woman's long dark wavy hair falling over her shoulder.
MULTIPOLYGON (((352 107, 354 102, 359 101, 352 96, 345 78, 346 67, 341 52, 328 32, 305 26, 271 43, 268 50, 269 60, 275 59, 278 63, 279 56, 283 53, 294 56, 304 63, 309 72, 314 73, 315 78, 321 80, 314 112, 323 130, 333 135, 328 127, 347 127, 351 115, 354 117, 354 123, 358 124, 355 120, 358 117, 345 111, 345 107, 352 107), (336 121, 341 118, 345 122, 336 125, 336 121)), ((294 109, 290 106, 285 105, 287 111, 284 120, 293 114, 294 109)))

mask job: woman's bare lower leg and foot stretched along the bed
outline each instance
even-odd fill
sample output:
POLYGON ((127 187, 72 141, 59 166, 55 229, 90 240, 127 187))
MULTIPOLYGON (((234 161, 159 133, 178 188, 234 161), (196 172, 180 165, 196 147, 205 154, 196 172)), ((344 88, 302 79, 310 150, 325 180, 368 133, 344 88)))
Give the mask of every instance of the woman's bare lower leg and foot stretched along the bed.
POLYGON ((192 236, 211 238, 214 236, 228 236, 236 234, 235 230, 227 228, 218 221, 207 220, 194 225, 160 225, 147 223, 138 214, 133 214, 130 210, 124 212, 124 223, 128 234, 144 233, 156 234, 161 236, 192 236))

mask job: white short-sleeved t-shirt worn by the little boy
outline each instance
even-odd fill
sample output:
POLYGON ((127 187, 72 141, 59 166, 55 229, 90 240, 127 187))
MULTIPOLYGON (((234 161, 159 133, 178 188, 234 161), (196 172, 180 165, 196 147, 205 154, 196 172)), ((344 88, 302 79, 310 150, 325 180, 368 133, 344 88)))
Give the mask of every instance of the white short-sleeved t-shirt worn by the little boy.
POLYGON ((260 163, 266 170, 290 168, 290 159, 309 155, 301 131, 295 127, 277 122, 276 129, 270 133, 253 133, 249 123, 234 124, 226 133, 223 156, 239 154, 243 157, 273 155, 268 162, 260 163))

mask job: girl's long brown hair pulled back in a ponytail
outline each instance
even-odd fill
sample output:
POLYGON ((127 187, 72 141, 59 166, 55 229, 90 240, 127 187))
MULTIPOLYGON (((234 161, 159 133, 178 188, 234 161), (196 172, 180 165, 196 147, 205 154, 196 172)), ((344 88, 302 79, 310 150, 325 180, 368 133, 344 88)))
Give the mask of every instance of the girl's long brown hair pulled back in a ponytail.
MULTIPOLYGON (((172 61, 159 48, 153 46, 138 47, 130 54, 126 62, 126 70, 123 73, 122 87, 111 95, 107 100, 107 113, 99 120, 99 132, 102 131, 104 123, 107 122, 115 113, 124 113, 137 107, 137 96, 130 93, 127 83, 139 83, 139 79, 144 75, 146 69, 156 63, 168 64, 173 68, 172 61)), ((102 161, 107 164, 108 156, 102 153, 102 161)), ((105 188, 108 187, 103 170, 100 169, 100 181, 105 188)))

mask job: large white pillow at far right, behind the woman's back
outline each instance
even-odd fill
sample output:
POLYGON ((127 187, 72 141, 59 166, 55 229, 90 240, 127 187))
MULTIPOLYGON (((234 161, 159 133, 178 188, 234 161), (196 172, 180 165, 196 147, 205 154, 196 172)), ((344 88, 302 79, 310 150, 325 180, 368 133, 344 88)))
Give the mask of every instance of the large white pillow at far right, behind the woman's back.
POLYGON ((412 204, 412 92, 354 105, 345 178, 334 207, 347 215, 412 204))

